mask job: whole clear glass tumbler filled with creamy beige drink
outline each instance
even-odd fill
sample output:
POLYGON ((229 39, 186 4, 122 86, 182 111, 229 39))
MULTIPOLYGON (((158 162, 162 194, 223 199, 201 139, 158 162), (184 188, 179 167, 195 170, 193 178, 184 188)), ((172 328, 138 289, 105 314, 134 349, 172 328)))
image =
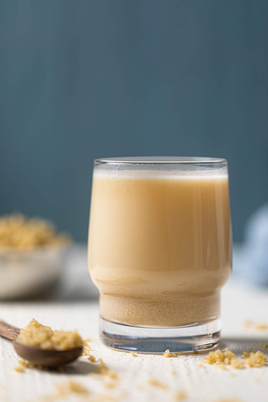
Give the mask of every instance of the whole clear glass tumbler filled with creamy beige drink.
POLYGON ((225 159, 94 161, 88 267, 104 345, 143 353, 217 345, 231 261, 225 159))

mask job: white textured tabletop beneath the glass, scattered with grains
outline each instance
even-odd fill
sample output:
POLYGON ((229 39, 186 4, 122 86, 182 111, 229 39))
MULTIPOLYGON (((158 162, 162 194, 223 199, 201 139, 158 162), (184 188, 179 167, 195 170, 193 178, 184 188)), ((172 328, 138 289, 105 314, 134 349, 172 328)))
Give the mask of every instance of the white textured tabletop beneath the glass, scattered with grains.
MULTIPOLYGON (((83 338, 92 338, 91 354, 102 358, 108 369, 115 371, 119 381, 99 374, 89 375, 99 363, 90 363, 80 357, 66 366, 63 372, 27 369, 25 373, 14 371, 18 357, 10 341, 0 338, 0 401, 36 402, 55 400, 52 397, 56 385, 65 381, 79 381, 89 391, 83 398, 79 395, 65 396, 56 400, 88 401, 176 401, 219 402, 268 400, 268 367, 227 369, 198 365, 205 353, 188 354, 173 358, 161 355, 138 355, 111 351, 98 340, 98 305, 96 301, 84 302, 25 302, 1 303, 0 317, 20 328, 34 317, 53 329, 78 329, 83 338), (151 385, 150 380, 163 385, 151 385), (108 385, 107 385, 108 384, 108 385), (108 388, 109 384, 115 385, 108 388), (186 398, 176 399, 184 391, 186 398), (44 399, 44 397, 47 398, 44 399)), ((268 344, 268 331, 256 330, 256 324, 268 323, 268 291, 245 289, 230 282, 222 292, 223 331, 221 349, 228 346, 241 355, 260 343, 268 344), (243 327, 245 320, 252 320, 252 327, 243 327)))

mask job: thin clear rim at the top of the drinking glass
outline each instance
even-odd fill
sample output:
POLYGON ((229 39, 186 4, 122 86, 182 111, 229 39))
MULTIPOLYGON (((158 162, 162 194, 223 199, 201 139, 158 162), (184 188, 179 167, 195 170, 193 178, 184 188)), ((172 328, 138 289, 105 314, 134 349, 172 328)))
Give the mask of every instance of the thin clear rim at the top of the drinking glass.
POLYGON ((227 163, 224 158, 206 158, 198 156, 130 156, 119 158, 97 158, 97 163, 127 164, 219 164, 227 163))

